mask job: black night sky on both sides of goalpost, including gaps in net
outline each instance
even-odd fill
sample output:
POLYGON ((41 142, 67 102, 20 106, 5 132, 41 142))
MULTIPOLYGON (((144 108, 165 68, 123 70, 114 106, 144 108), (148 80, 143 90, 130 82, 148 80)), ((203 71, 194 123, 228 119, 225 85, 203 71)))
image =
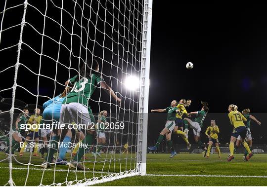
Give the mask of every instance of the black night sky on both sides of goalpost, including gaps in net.
MULTIPOLYGON (((19 2, 23 2, 20 0, 19 2)), ((45 12, 45 1, 40 3, 39 1, 30 1, 34 6, 39 8, 41 12, 45 12)), ((54 7, 51 1, 48 2, 47 15, 60 23, 60 11, 54 7)), ((55 1, 60 5, 60 1, 55 1)), ((16 1, 8 1, 8 6, 18 4, 16 1)), ((122 3, 122 2, 121 2, 122 3)), ((92 4, 93 8, 97 8, 97 1, 92 4)), ((3 3, 1 3, 2 7, 3 3)), ((73 15, 73 1, 64 2, 64 8, 73 15)), ((79 8, 76 10, 77 15, 81 15, 79 8)), ((89 10, 87 10, 89 11, 89 10)), ((6 11, 3 28, 13 26, 21 23, 21 16, 23 14, 23 6, 17 7, 16 10, 6 11), (6 21, 8 20, 8 21, 6 21)), ((99 13, 100 17, 103 16, 103 11, 99 13)), ((87 12, 88 15, 88 12, 87 12)), ((70 15, 65 13, 63 19, 63 26, 67 30, 71 31, 72 18, 70 15)), ((126 17, 120 14, 121 22, 122 18, 126 17)), ((77 18, 79 19, 79 18, 77 18)), ((108 22, 112 22, 112 17, 107 18, 108 22)), ((43 31, 44 17, 33 7, 27 8, 26 20, 33 25, 33 27, 39 32, 43 31)), ((92 23, 95 17, 92 18, 92 23)), ((89 27, 94 31, 94 25, 90 23, 89 27)), ((77 73, 75 70, 78 69, 77 58, 69 58, 70 52, 64 47, 60 48, 58 52, 58 44, 51 41, 49 38, 44 40, 44 54, 49 55, 51 58, 56 59, 59 54, 60 62, 66 66, 62 66, 42 56, 41 74, 54 78, 55 72, 57 71, 57 83, 55 84, 52 79, 40 76, 40 85, 38 89, 38 73, 39 73, 39 54, 33 52, 26 44, 33 47, 38 53, 41 51, 42 36, 38 34, 30 24, 26 24, 23 33, 22 53, 20 56, 20 62, 25 66, 20 66, 18 73, 18 84, 23 86, 29 92, 33 94, 43 95, 45 97, 38 98, 38 104, 42 105, 48 98, 54 94, 57 95, 63 90, 64 83, 68 78, 68 68, 71 62, 70 76, 74 76, 77 73), (30 73, 26 67, 28 67, 33 73, 30 73), (55 92, 54 92, 55 91, 55 92)), ((118 28, 120 24, 115 24, 114 28, 118 28)), ((139 24, 140 26, 140 24, 139 24)), ((99 22, 97 25, 99 30, 103 29, 103 24, 99 22)), ((80 33, 80 27, 74 27, 75 33, 80 33)), ((113 31, 106 30, 109 33, 113 31)), ((115 29, 116 30, 116 29, 115 29)), ((124 31, 120 30, 122 36, 125 34, 124 31)), ((0 49, 9 46, 10 44, 17 44, 19 39, 20 26, 4 31, 2 33, 2 41, 0 49)), ((45 34, 49 37, 53 37, 56 40, 59 38, 60 29, 57 24, 46 19, 45 34)), ((113 33, 113 38, 116 40, 117 33, 113 33)), ((96 37, 100 43, 102 42, 102 33, 89 32, 90 39, 96 37)), ((87 37, 84 37, 87 38, 87 37)), ((119 39, 122 42, 124 39, 119 39)), ((71 38, 70 35, 65 31, 63 32, 62 43, 70 48, 71 38)), ((90 41, 91 42, 91 41, 90 41)), ((107 47, 110 45, 108 38, 105 39, 107 47)), ((72 52, 79 56, 81 40, 78 37, 73 37, 72 52)), ((84 41, 85 43, 85 41, 84 41)), ((92 51, 91 42, 89 50, 92 51)), ((115 43, 115 46, 117 44, 115 43)), ((125 46, 124 46, 125 47, 125 46)), ((138 46, 136 47, 138 48, 138 46)), ((95 46, 94 55, 102 55, 102 46, 95 46)), ((115 53, 116 53, 116 49, 115 53)), ((118 47, 119 57, 126 59, 124 51, 127 49, 118 47)), ((87 51, 88 52, 88 51, 87 51)), ((82 53, 84 55, 87 53, 82 53)), ((16 62, 17 47, 10 48, 8 50, 0 51, 0 56, 4 58, 0 59, 0 66, 3 70, 9 66, 14 65, 16 62), (2 60, 5 59, 5 60, 2 60)), ((108 63, 100 62, 100 72, 110 76, 111 72, 114 77, 105 77, 105 80, 111 87, 122 93, 123 98, 129 92, 122 91, 120 85, 116 87, 121 72, 118 71, 118 67, 124 67, 127 63, 122 63, 116 59, 110 59, 110 56, 116 58, 115 55, 110 55, 108 50, 105 51, 103 58, 107 58, 108 62, 112 62, 114 65, 112 68, 109 67, 108 63)), ((131 55, 130 55, 131 56, 131 55)), ((227 124, 227 109, 229 104, 236 104, 239 107, 239 111, 245 108, 250 108, 253 113, 266 113, 267 104, 267 11, 266 5, 264 4, 193 4, 193 3, 178 3, 178 1, 169 1, 167 3, 154 0, 153 12, 152 12, 152 36, 151 36, 151 54, 150 54, 150 89, 149 89, 149 111, 151 109, 164 109, 168 107, 174 99, 191 99, 192 105, 188 108, 188 112, 198 111, 201 109, 200 101, 206 101, 209 103, 210 113, 223 113, 221 123, 225 125, 223 129, 224 134, 229 134, 232 127, 227 124), (187 70, 185 64, 187 62, 193 62, 194 68, 187 70), (222 122, 223 121, 223 122, 222 122)), ((138 59, 138 58, 137 58, 138 59)), ((98 59, 99 60, 99 59, 98 59)), ((123 60, 122 60, 123 61, 123 60)), ((131 62, 131 60, 129 60, 131 62)), ((125 69, 124 69, 125 70, 125 69)), ((3 84, 3 88, 10 88, 13 85, 14 68, 10 68, 7 71, 0 74, 0 78, 3 84)), ((123 79, 123 78, 121 78, 123 79)), ((2 89, 2 88, 1 88, 2 89)), ((36 97, 31 95, 22 87, 17 87, 16 99, 22 100, 27 104, 34 104, 32 108, 35 108, 37 103, 36 97)), ((117 111, 115 105, 109 105, 109 96, 103 91, 95 91, 90 101, 90 106, 93 112, 105 108, 105 110, 114 112, 117 111), (101 101, 98 103, 99 94, 101 93, 101 101)), ((6 90, 0 93, 0 96, 4 98, 11 98, 11 90, 6 90)), ((134 97, 133 94, 131 97, 134 97)), ((136 98, 136 97, 135 97, 136 98)), ((129 100, 129 99, 128 99, 129 100)), ((10 101, 10 100, 9 100, 10 101)), ((136 100, 137 101, 137 100, 136 100)), ((123 100, 124 105, 120 112, 125 110, 125 107, 131 108, 125 104, 128 101, 123 100)), ((112 100, 112 103, 114 101, 112 100)), ((132 102, 133 103, 133 102, 132 102)), ((24 103, 20 105, 25 106, 24 103)), ((10 107, 7 106, 6 110, 10 107)), ((2 108, 0 110, 3 110, 2 108)), ((137 108, 135 108, 137 111, 137 108)), ((216 115, 216 114, 215 114, 216 115)), ((162 129, 162 125, 166 120, 166 114, 162 114, 162 121, 157 121, 158 124, 153 122, 150 125, 155 125, 155 135, 162 129)), ((266 119, 263 119, 264 114, 256 114, 262 120, 262 123, 266 123, 266 119)), ((209 124, 212 114, 207 116, 205 126, 209 124)), ((218 118, 219 119, 219 118, 218 118)), ((266 132, 264 130, 266 125, 262 125, 257 129, 257 136, 266 132)), ((150 128, 151 130, 151 128, 150 128)), ((254 131, 255 132, 255 131, 254 131)), ((204 133, 204 132, 203 132, 204 133)), ((255 132, 256 133, 256 132, 255 132)), ((150 133, 151 134, 151 133, 150 133)), ((256 135, 256 134, 255 134, 256 135)), ((155 137, 148 137, 149 141, 154 140, 155 137)), ((228 140, 228 138, 226 138, 228 140)))

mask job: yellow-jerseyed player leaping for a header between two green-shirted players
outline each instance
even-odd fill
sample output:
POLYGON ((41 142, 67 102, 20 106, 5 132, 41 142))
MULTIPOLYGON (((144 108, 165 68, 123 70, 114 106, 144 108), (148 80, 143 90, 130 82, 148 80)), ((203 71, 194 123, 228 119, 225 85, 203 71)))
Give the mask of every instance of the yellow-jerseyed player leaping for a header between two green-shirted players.
POLYGON ((183 132, 183 120, 182 116, 186 115, 188 116, 188 113, 185 109, 185 107, 189 107, 191 105, 191 100, 185 100, 181 99, 177 105, 178 110, 176 110, 176 120, 175 120, 175 128, 174 128, 174 133, 178 134, 181 136, 183 141, 187 145, 187 150, 190 150, 191 144, 188 142, 188 129, 186 129, 186 132, 183 132))

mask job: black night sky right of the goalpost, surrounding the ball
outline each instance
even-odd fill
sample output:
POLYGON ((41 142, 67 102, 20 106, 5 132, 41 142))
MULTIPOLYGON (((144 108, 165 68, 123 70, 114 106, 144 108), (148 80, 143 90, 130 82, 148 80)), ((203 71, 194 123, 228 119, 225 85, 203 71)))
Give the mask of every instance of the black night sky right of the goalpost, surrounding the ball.
POLYGON ((191 99, 266 112, 267 12, 262 4, 153 2, 149 109, 191 99), (185 64, 193 62, 187 70, 185 64))

